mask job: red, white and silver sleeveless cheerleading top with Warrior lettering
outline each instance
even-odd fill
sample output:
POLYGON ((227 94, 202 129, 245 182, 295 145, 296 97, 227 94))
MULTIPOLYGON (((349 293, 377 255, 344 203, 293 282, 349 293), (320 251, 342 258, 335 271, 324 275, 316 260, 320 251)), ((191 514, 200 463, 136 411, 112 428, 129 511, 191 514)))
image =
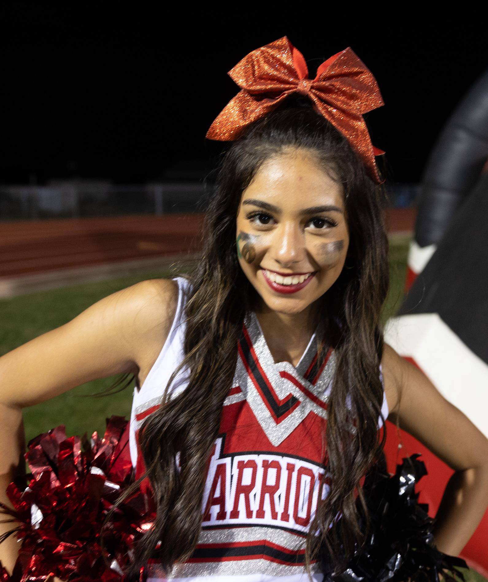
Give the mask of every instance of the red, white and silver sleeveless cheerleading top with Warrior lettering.
MULTIPOLYGON (((168 338, 143 385, 134 389, 129 445, 136 478, 144 473, 138 430, 158 408, 184 356, 189 282, 182 277, 176 281, 178 307, 168 338)), ((148 582, 306 582, 306 533, 317 499, 327 496, 330 484, 322 435, 335 365, 332 349, 317 361, 316 338, 317 332, 296 367, 274 363, 256 314, 246 315, 234 381, 211 453, 195 552, 167 575, 157 559, 150 559, 148 582)), ((187 384, 183 370, 171 396, 187 384)), ((387 418, 384 392, 381 412, 387 418)), ((323 580, 317 562, 312 572, 314 582, 323 580)))

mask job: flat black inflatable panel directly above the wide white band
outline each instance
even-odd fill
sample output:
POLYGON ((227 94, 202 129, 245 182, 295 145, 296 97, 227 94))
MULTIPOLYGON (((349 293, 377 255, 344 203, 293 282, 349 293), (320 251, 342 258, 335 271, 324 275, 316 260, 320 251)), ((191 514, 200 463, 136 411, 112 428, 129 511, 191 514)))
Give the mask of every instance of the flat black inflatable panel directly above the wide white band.
POLYGON ((397 315, 413 313, 438 313, 488 364, 488 173, 451 219, 397 315))

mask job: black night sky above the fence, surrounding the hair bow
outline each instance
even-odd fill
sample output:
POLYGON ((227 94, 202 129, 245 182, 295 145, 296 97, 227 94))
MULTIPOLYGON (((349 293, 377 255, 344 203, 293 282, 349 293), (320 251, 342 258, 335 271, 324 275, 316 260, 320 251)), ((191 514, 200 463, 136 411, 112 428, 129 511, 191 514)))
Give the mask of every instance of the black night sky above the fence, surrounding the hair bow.
POLYGON ((395 181, 417 182, 444 123, 488 66, 486 31, 459 22, 422 17, 420 28, 401 15, 379 24, 355 13, 356 27, 333 26, 337 16, 317 26, 309 8, 303 20, 261 17, 256 26, 249 15, 217 17, 217 5, 196 13, 185 3, 182 15, 156 6, 3 3, 0 183, 203 175, 221 147, 205 133, 238 92, 227 71, 284 35, 310 77, 335 52, 356 52, 386 103, 366 116, 373 143, 387 151, 395 181))

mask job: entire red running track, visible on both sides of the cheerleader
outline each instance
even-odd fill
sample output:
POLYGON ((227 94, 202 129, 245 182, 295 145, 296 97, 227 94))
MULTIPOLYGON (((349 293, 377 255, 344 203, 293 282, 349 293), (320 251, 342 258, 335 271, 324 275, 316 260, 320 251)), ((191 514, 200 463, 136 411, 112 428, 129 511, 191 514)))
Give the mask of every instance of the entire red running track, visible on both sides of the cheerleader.
MULTIPOLYGON (((114 265, 144 267, 195 258, 202 222, 203 214, 170 214, 0 223, 0 296, 17 294, 5 291, 12 282, 19 286, 29 280, 32 290, 43 288, 47 276, 54 281, 70 273, 74 281, 87 278, 90 268, 108 272, 110 265, 114 273, 114 265)), ((386 211, 390 235, 408 235, 414 223, 415 208, 386 211)))

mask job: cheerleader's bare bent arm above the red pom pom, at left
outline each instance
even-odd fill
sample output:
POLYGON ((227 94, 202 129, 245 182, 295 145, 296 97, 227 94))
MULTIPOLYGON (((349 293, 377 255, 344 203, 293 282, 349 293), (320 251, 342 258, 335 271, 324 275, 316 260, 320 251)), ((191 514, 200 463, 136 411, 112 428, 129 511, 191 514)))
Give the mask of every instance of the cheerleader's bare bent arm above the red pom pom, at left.
MULTIPOLYGON (((153 339, 164 342, 169 332, 177 293, 174 281, 137 283, 0 357, 0 501, 10 505, 5 489, 25 472, 22 408, 93 379, 137 374, 144 346, 153 339)), ((11 528, 12 523, 0 523, 0 533, 11 528)), ((17 551, 13 536, 0 544, 8 570, 17 551)))

